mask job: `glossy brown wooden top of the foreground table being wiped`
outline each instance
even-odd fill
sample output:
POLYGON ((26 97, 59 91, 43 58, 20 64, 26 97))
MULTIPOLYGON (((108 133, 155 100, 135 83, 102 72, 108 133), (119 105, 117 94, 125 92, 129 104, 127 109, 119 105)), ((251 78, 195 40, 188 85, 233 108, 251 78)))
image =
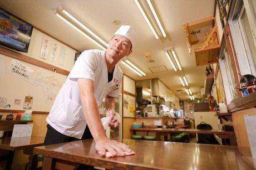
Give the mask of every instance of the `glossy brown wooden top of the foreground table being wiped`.
POLYGON ((107 169, 256 169, 249 148, 129 139, 122 142, 136 154, 102 157, 93 140, 35 147, 33 153, 107 169))

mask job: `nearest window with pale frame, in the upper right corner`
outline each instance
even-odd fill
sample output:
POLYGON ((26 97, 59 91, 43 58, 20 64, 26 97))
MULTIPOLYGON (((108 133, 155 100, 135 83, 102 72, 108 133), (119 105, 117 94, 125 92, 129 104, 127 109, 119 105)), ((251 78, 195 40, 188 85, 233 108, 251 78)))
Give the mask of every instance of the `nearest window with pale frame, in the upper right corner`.
POLYGON ((234 0, 228 18, 240 73, 256 75, 256 1, 234 0))

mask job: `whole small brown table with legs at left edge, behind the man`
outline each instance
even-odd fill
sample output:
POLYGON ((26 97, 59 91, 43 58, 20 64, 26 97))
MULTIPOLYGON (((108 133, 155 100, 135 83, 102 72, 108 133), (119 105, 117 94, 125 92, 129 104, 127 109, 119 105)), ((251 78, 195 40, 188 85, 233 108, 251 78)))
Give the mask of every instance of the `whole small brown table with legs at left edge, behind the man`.
POLYGON ((6 169, 11 169, 14 151, 23 150, 24 154, 33 154, 33 147, 42 146, 45 137, 29 136, 29 137, 6 137, 0 138, 0 150, 9 151, 8 156, 0 156, 0 161, 7 160, 6 169))

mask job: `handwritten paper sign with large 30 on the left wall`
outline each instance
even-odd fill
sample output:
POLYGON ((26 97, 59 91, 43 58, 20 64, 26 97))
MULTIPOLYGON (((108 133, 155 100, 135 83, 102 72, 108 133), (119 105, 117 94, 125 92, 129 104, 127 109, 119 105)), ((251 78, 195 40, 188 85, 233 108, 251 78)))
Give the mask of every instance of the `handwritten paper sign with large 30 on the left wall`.
POLYGON ((12 59, 8 66, 8 70, 11 72, 11 74, 23 80, 30 80, 34 72, 33 69, 29 68, 29 66, 19 62, 16 59, 12 59))

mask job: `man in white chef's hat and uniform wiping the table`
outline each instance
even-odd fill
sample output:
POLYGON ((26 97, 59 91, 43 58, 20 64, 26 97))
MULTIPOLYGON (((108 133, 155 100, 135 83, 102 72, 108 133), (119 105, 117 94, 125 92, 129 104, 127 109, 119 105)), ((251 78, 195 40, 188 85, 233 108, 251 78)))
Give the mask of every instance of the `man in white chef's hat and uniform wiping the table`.
POLYGON ((125 156, 129 146, 107 138, 98 107, 105 97, 109 126, 114 119, 115 100, 120 92, 122 71, 117 63, 132 53, 136 37, 129 25, 122 25, 112 36, 107 50, 85 50, 76 60, 46 121, 45 145, 92 138, 96 150, 106 156, 125 156))

